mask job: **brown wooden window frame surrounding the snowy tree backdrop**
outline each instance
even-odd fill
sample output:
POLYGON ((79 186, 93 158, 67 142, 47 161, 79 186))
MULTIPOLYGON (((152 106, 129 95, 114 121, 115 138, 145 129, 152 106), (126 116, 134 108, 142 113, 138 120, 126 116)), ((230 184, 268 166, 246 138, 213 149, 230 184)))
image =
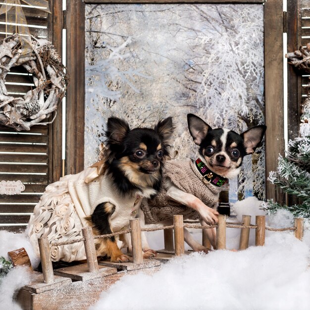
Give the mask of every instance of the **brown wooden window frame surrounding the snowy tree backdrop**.
MULTIPOLYGON (((67 69, 70 86, 66 101, 65 172, 84 169, 85 101, 85 3, 261 3, 264 5, 266 176, 276 170, 278 155, 284 155, 283 124, 283 4, 282 0, 67 0, 67 69)), ((266 182, 266 197, 278 202, 283 195, 266 182)))

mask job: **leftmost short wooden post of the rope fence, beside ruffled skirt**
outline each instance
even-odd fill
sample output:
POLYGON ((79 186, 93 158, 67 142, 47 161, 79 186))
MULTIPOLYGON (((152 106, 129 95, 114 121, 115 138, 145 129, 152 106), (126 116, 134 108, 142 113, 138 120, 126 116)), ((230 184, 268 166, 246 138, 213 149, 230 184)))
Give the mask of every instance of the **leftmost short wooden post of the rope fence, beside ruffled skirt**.
POLYGON ((54 282, 51 249, 48 237, 38 239, 44 283, 54 282))

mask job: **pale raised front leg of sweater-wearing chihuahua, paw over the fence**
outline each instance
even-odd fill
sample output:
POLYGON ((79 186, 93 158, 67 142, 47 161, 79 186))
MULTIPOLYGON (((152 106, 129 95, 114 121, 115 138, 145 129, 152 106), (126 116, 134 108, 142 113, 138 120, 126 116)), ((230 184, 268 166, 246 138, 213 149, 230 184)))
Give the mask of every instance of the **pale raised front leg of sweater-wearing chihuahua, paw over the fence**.
POLYGON ((186 205, 196 210, 203 220, 208 224, 214 225, 218 222, 218 212, 210 207, 207 207, 199 198, 192 194, 185 193, 172 183, 169 184, 167 194, 169 198, 178 202, 181 205, 186 205))

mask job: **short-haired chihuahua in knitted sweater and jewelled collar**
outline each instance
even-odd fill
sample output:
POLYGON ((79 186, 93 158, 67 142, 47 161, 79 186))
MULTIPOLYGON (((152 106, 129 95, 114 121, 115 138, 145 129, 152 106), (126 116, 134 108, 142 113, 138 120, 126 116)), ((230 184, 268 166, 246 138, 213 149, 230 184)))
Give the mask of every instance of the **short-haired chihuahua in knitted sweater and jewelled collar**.
MULTIPOLYGON (((154 214, 158 219, 160 218, 160 212, 169 209, 169 203, 171 203, 173 206, 170 211, 176 209, 180 211, 182 207, 184 210, 186 210, 186 208, 187 210, 189 208, 190 210, 194 209, 196 211, 193 212, 195 214, 194 217, 200 218, 202 225, 206 225, 206 223, 217 223, 218 212, 216 211, 214 201, 218 200, 218 193, 220 190, 218 189, 216 191, 215 188, 223 185, 227 179, 234 178, 238 175, 243 157, 255 152, 266 130, 266 126, 259 125, 238 134, 228 129, 212 129, 210 125, 194 114, 188 114, 187 120, 190 134, 195 144, 199 146, 200 158, 191 163, 189 161, 180 163, 178 160, 166 162, 163 170, 165 181, 160 193, 153 200, 148 200, 147 208, 145 201, 143 202, 142 209, 147 222, 148 215, 146 210, 149 214, 152 214, 152 207, 156 208, 154 214), (176 174, 179 175, 179 179, 182 178, 182 174, 184 174, 182 172, 182 165, 184 165, 184 170, 186 165, 190 165, 187 171, 193 170, 195 175, 198 176, 197 179, 191 178, 188 174, 183 176, 183 181, 176 180, 177 178, 174 177, 176 174), (179 183, 177 184, 177 182, 179 183), (189 182, 195 182, 195 184, 191 186, 189 182), (216 193, 215 195, 217 196, 215 199, 212 197, 211 200, 211 197, 207 197, 206 194, 204 194, 205 196, 202 195, 203 198, 199 199, 199 186, 201 186, 201 192, 205 192, 204 186, 208 186, 210 196, 216 193), (188 190, 189 188, 195 188, 195 190, 191 192, 188 190), (160 204, 163 207, 162 209, 160 209, 160 204), (176 204, 179 204, 179 207, 176 207, 176 204)), ((169 214, 166 213, 167 218, 165 220, 163 220, 165 216, 165 214, 163 214, 161 223, 169 225, 172 220, 172 215, 174 215, 171 213, 172 212, 169 214)), ((187 216, 187 218, 191 218, 191 216, 187 216)), ((206 233, 211 245, 215 248, 215 228, 206 229, 206 233)), ((208 251, 208 249, 194 240, 187 229, 184 229, 184 239, 194 251, 208 251)))

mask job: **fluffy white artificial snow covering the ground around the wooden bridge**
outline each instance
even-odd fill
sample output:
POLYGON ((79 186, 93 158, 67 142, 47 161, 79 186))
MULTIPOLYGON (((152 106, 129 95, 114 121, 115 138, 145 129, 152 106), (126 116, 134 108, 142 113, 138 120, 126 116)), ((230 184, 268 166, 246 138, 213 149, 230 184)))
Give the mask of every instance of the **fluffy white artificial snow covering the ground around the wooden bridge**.
MULTIPOLYGON (((261 202, 248 198, 234 205, 240 222, 242 214, 265 214, 261 202)), ((291 227, 293 217, 286 210, 267 216, 266 226, 291 227)), ((90 310, 308 310, 310 309, 310 231, 305 231, 304 241, 293 232, 266 231, 265 246, 254 247, 254 229, 251 229, 250 247, 233 252, 212 251, 209 254, 193 253, 171 259, 153 275, 142 271, 125 275, 100 296, 90 310)), ((148 233, 154 249, 163 247, 162 231, 148 233)), ((192 230, 197 240, 198 230, 192 230)), ((240 230, 227 229, 227 248, 238 249, 240 230)), ((32 263, 36 264, 26 234, 0 232, 0 256, 24 247, 32 263)), ((26 267, 13 268, 0 284, 1 309, 19 310, 12 302, 14 292, 29 282, 26 267)))

